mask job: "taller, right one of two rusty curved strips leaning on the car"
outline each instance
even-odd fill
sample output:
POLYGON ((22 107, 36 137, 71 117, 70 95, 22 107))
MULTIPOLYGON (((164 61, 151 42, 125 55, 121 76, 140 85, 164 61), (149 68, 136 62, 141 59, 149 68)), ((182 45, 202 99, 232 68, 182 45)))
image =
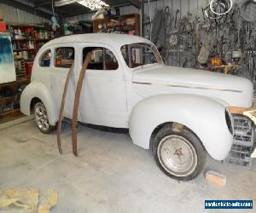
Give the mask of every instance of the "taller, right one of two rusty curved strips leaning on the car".
POLYGON ((75 156, 78 156, 77 126, 78 126, 79 101, 80 101, 81 89, 84 82, 84 76, 85 76, 85 72, 86 72, 86 68, 88 66, 89 60, 90 60, 90 54, 87 54, 85 57, 81 72, 79 74, 79 81, 77 84, 77 89, 76 89, 75 98, 73 102, 72 148, 73 148, 73 154, 75 156))

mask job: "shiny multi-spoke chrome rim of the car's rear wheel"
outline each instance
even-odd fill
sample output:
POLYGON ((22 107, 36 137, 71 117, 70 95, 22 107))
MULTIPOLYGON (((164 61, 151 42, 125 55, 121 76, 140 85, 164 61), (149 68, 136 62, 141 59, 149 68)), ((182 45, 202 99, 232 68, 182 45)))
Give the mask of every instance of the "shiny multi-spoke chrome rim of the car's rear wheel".
POLYGON ((49 121, 44 106, 38 105, 35 107, 35 118, 40 130, 49 130, 49 121))

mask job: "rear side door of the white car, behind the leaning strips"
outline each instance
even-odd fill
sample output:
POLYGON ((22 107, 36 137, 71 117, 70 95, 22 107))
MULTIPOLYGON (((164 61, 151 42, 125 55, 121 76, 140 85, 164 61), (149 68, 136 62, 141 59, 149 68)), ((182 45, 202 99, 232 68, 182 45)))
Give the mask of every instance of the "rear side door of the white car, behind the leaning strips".
MULTIPOLYGON (((51 78, 52 84, 52 94, 55 97, 56 106, 58 107, 58 112, 61 107, 61 99, 63 95, 63 90, 67 78, 67 73, 73 64, 73 61, 77 58, 77 47, 75 43, 58 44, 53 47, 54 57, 52 62, 52 73, 54 75, 51 78)), ((73 114, 73 100, 75 94, 75 78, 74 73, 76 72, 77 65, 74 62, 73 75, 70 78, 66 102, 63 112, 63 117, 72 118, 73 114)), ((79 117, 81 121, 81 117, 79 117)))

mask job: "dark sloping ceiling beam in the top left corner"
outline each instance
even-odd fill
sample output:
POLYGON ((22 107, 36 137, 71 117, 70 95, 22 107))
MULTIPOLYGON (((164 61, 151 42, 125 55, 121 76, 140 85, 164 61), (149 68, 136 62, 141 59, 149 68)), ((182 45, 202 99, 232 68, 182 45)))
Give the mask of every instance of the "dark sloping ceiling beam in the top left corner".
POLYGON ((28 6, 24 3, 16 2, 15 0, 9 1, 9 0, 0 0, 0 3, 7 4, 11 7, 15 7, 16 9, 21 9, 26 11, 30 14, 36 14, 38 16, 44 17, 46 19, 50 20, 51 14, 45 13, 44 11, 41 11, 40 9, 34 9, 31 6, 28 6))

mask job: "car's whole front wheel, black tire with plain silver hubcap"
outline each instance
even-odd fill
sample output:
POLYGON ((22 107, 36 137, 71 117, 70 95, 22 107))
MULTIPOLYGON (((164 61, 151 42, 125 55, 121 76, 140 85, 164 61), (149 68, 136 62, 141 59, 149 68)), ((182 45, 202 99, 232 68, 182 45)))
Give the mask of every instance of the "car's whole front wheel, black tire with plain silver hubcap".
POLYGON ((193 180, 205 168, 206 150, 198 137, 185 128, 181 132, 176 132, 172 130, 172 125, 166 125, 155 135, 152 149, 155 162, 160 170, 178 181, 193 180), (186 151, 187 154, 185 154, 186 151), (172 170, 172 167, 175 165, 178 167, 178 164, 180 168, 184 167, 184 164, 181 164, 184 160, 186 164, 189 164, 188 169, 183 169, 183 172, 172 170))

